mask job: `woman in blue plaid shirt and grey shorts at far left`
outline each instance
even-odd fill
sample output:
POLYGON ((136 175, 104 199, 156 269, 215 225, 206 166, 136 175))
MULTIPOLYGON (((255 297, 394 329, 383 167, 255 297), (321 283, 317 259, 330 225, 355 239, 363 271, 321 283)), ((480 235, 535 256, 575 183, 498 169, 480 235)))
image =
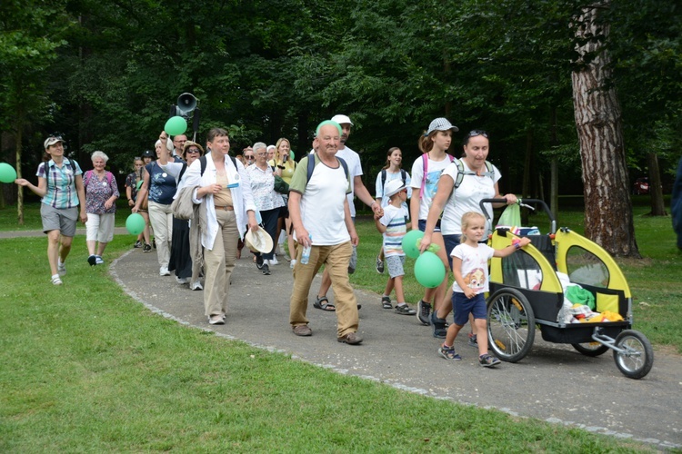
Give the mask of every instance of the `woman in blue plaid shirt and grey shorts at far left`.
POLYGON ((87 222, 83 171, 78 163, 65 157, 64 139, 60 136, 48 137, 44 146, 44 162, 38 165, 35 173, 38 185, 24 178, 15 180, 15 183, 41 197, 40 217, 43 232, 47 234, 47 261, 52 272, 50 279, 54 285, 62 285, 61 278, 66 274, 66 257, 71 252, 75 236, 75 223, 79 217, 81 222, 87 222))

